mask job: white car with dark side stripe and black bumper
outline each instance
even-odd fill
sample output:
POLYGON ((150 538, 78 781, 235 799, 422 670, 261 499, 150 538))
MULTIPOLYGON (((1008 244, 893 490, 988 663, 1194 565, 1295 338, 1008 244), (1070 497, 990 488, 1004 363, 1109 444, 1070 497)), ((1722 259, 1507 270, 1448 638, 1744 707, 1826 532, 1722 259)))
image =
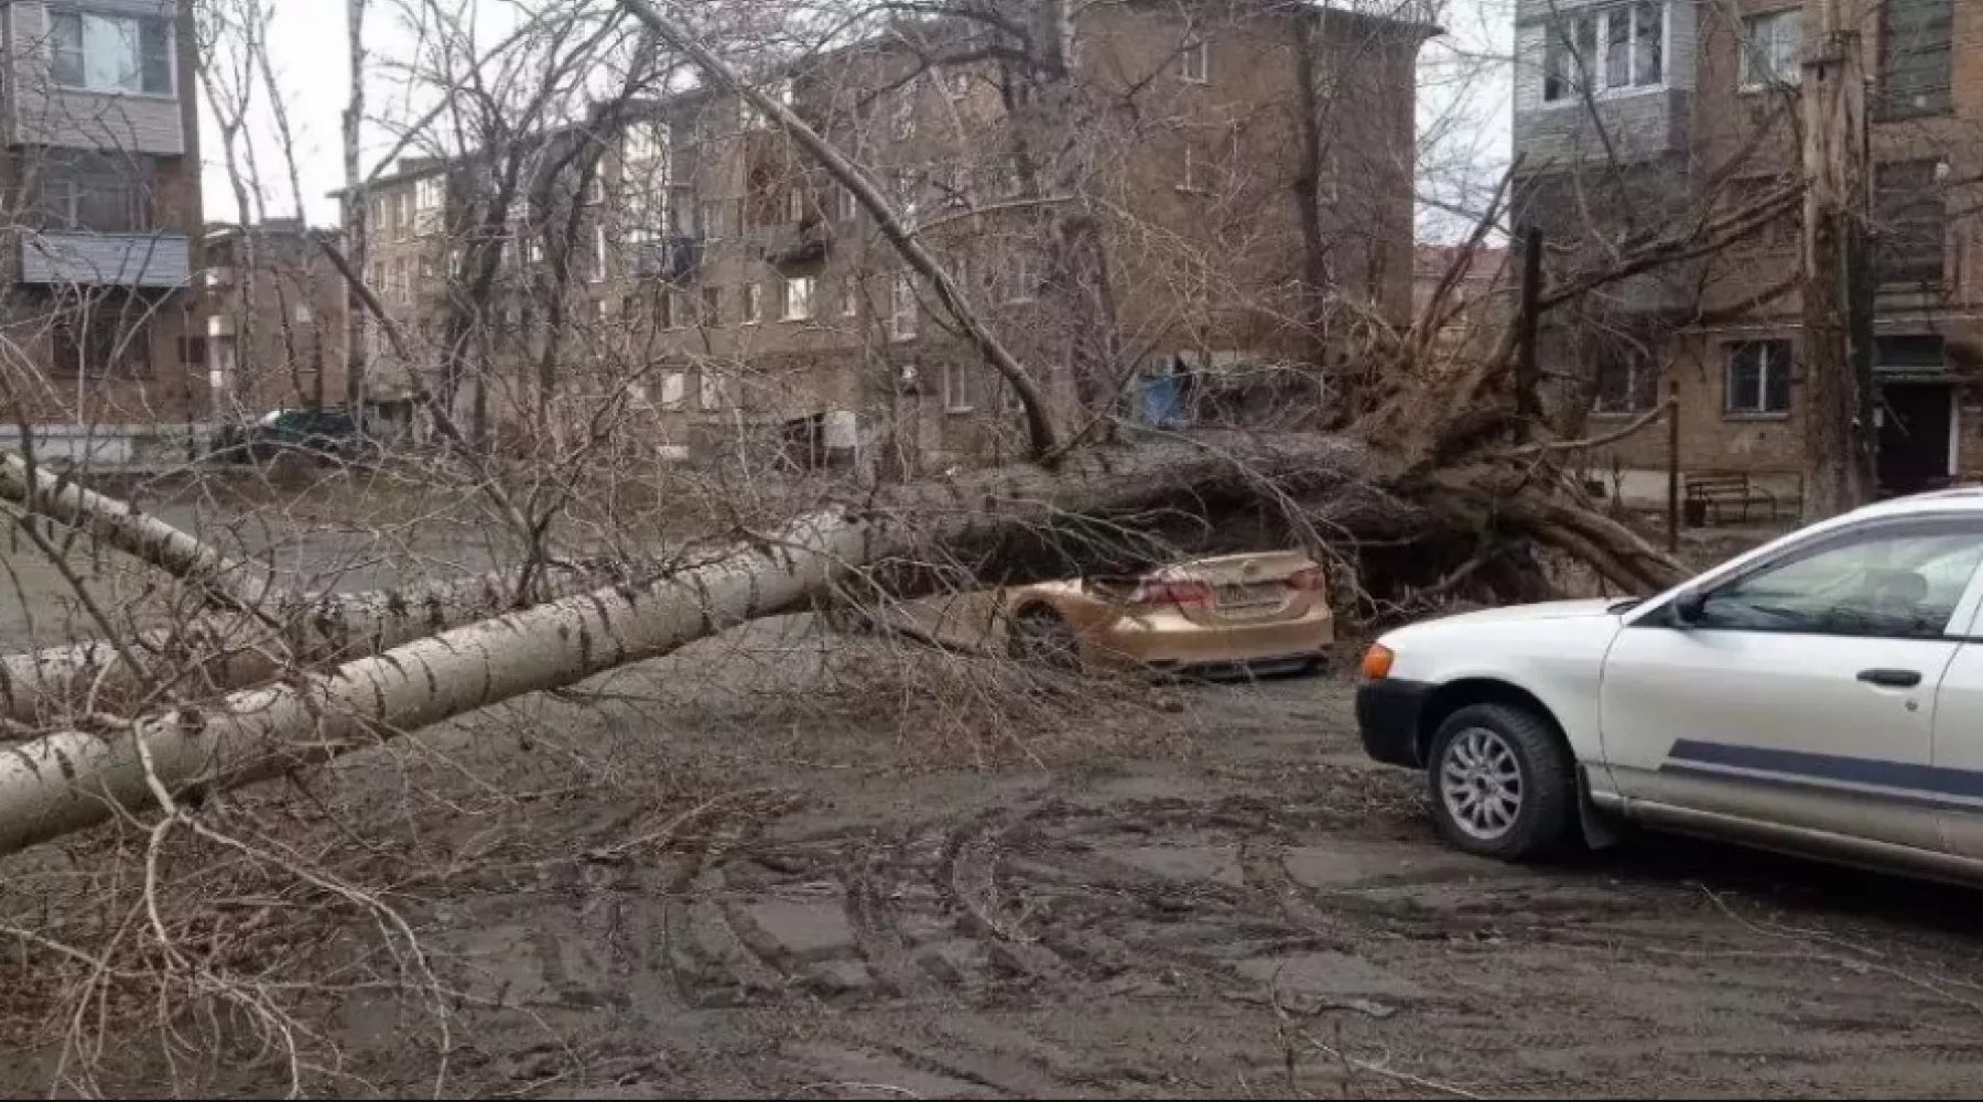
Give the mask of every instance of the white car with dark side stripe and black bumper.
POLYGON ((1983 488, 1884 501, 1648 601, 1394 630, 1356 719, 1475 854, 1642 823, 1983 880, 1979 565, 1983 488))

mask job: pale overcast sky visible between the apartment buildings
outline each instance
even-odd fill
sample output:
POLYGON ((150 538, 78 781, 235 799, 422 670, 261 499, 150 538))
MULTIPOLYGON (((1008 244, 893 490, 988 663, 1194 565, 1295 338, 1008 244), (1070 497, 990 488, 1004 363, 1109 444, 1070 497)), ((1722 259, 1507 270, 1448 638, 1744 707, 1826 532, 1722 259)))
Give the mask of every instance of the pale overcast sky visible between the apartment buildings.
MULTIPOLYGON (((508 14, 506 0, 474 2, 478 14, 492 22, 508 14)), ((393 26, 391 8, 391 4, 375 4, 367 26, 367 46, 385 55, 407 48, 407 36, 393 26)), ((1505 57, 1509 50, 1507 44, 1513 38, 1511 8, 1513 0, 1450 0, 1448 36, 1426 52, 1426 71, 1420 81, 1420 125, 1422 129, 1438 127, 1450 135, 1436 157, 1436 174, 1422 184, 1428 196, 1440 200, 1456 196, 1450 178, 1456 166, 1469 166, 1471 174, 1491 184, 1497 168, 1507 161, 1509 81, 1505 65, 1491 59, 1505 57), (1456 121, 1461 125, 1454 125, 1456 121)), ((311 222, 335 224, 337 204, 327 192, 343 184, 339 115, 345 107, 351 73, 345 52, 345 4, 341 0, 282 0, 276 4, 270 57, 297 135, 307 214, 311 222)), ((379 101, 391 95, 391 89, 383 79, 375 79, 371 95, 377 109, 379 101)), ((202 141, 206 214, 212 220, 234 220, 234 198, 220 168, 220 143, 212 111, 204 105, 202 119, 206 131, 202 141)), ((280 180, 284 174, 276 170, 276 147, 270 141, 272 127, 266 117, 258 121, 256 131, 258 149, 264 151, 262 174, 280 180)), ((379 145, 375 143, 375 147, 379 145)), ((270 188, 266 202, 270 214, 276 216, 293 210, 288 184, 270 188)), ((1452 234, 1452 228, 1440 226, 1440 222, 1430 210, 1422 216, 1428 230, 1438 236, 1452 234)))

